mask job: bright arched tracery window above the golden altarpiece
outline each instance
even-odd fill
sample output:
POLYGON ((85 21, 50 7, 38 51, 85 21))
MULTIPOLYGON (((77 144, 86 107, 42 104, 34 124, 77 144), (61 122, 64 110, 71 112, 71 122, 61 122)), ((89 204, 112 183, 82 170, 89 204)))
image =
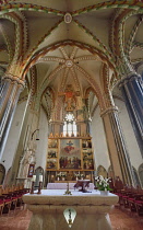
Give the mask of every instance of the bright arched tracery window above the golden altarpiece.
POLYGON ((63 136, 67 135, 76 136, 76 123, 72 113, 68 113, 64 117, 63 136))

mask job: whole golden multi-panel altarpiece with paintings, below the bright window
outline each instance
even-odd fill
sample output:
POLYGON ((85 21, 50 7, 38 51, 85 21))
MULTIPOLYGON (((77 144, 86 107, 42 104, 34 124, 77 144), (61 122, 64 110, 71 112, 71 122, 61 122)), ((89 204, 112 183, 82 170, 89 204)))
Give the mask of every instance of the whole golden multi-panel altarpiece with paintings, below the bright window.
POLYGON ((78 176, 92 180, 95 170, 92 138, 48 138, 46 170, 48 182, 75 181, 78 176))

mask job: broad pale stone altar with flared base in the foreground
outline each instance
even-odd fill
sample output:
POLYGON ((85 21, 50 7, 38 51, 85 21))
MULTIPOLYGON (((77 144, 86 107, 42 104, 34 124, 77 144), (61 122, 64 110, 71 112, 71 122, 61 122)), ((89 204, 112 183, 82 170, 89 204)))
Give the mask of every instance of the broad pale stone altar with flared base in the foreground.
POLYGON ((73 208, 76 217, 71 230, 110 230, 109 210, 117 204, 118 196, 109 193, 102 196, 98 191, 82 193, 71 191, 72 195, 63 195, 64 189, 43 189, 40 195, 23 196, 27 208, 33 211, 28 230, 69 230, 63 216, 67 208, 73 208))

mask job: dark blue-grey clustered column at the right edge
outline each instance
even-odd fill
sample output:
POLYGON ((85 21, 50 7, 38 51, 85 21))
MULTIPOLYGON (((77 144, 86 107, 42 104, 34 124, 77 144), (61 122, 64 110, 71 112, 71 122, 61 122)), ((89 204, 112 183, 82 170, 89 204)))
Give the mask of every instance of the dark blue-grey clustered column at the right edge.
POLYGON ((127 110, 143 157, 143 80, 135 73, 119 83, 127 110))

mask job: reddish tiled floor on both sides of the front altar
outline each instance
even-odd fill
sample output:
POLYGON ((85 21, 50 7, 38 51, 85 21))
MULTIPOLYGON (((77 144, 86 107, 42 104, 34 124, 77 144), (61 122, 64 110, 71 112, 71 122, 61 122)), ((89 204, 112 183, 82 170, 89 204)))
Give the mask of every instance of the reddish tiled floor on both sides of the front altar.
MULTIPOLYGON (((0 217, 0 230, 27 230, 32 212, 27 209, 16 209, 8 215, 0 217)), ((112 208, 110 212, 112 230, 142 230, 143 218, 131 215, 128 210, 120 210, 118 207, 112 208)), ((106 229, 103 229, 106 230, 106 229)))

